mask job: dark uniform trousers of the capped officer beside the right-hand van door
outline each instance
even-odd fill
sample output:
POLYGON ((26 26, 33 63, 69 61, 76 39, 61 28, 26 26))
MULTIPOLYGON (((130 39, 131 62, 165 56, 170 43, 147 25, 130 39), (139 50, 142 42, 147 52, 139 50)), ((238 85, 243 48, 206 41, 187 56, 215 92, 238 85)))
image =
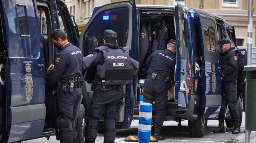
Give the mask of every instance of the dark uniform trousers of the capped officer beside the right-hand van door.
POLYGON ((239 112, 237 109, 237 81, 222 81, 221 83, 221 97, 222 103, 219 114, 219 122, 224 122, 225 119, 225 109, 228 102, 228 109, 231 117, 234 121, 239 122, 239 112))

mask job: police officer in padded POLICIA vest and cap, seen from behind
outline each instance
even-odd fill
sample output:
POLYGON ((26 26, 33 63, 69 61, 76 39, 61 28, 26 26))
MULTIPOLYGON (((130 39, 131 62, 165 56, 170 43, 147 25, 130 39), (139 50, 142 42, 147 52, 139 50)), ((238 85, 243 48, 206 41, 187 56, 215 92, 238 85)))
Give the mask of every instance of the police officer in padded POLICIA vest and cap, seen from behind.
MULTIPOLYGON (((86 125, 86 141, 94 143, 97 136, 99 117, 104 113, 104 143, 114 143, 116 138, 116 112, 120 112, 120 105, 124 103, 124 84, 132 84, 135 70, 128 52, 117 45, 117 33, 105 30, 103 46, 84 57, 84 69, 94 67, 96 77, 92 83, 94 91, 89 107, 89 120, 86 125)), ((135 64, 139 65, 136 61, 135 64)), ((91 70, 93 71, 93 70, 91 70)), ((95 74, 94 73, 94 74, 95 74)), ((91 73, 87 73, 91 74, 91 73)))

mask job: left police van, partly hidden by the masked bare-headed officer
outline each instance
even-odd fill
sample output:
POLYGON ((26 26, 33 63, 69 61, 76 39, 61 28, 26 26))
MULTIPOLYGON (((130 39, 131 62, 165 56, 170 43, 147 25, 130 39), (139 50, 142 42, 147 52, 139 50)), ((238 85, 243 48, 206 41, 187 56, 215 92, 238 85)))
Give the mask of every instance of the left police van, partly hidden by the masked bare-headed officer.
MULTIPOLYGON (((45 71, 59 51, 50 34, 59 28, 78 46, 72 18, 62 0, 0 1, 0 143, 55 135, 57 97, 45 87, 45 71)), ((84 120, 81 105, 77 143, 84 143, 84 120)))

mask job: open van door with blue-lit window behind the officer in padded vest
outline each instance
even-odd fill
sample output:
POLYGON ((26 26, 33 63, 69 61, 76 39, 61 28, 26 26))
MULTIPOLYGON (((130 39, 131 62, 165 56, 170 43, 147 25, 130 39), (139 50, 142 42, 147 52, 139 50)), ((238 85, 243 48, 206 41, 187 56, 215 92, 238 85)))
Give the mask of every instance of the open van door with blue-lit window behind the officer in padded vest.
MULTIPOLYGON (((130 57, 138 59, 137 49, 137 18, 135 1, 111 3, 101 6, 94 11, 91 19, 80 34, 79 49, 83 56, 88 56, 95 48, 103 45, 103 33, 110 29, 117 32, 117 43, 130 53, 130 57)), ((88 72, 87 72, 88 73, 88 72)), ((93 75, 92 75, 93 76, 93 75)), ((92 78, 94 80, 94 78, 92 78)), ((87 80, 89 82, 89 80, 87 80)), ((126 101, 120 113, 117 113, 117 128, 130 127, 136 84, 126 86, 126 101), (133 90, 132 90, 133 89, 133 90)), ((90 103, 93 92, 91 85, 87 83, 87 104, 90 103)), ((102 118, 100 118, 102 121, 102 118)))

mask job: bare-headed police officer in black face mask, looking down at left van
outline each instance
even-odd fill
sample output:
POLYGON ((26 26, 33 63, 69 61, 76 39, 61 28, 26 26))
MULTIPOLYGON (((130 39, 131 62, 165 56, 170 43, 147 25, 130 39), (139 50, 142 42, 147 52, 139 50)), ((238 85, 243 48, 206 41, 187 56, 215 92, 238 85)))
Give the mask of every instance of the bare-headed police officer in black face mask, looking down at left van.
POLYGON ((51 34, 52 41, 60 50, 55 64, 50 65, 46 75, 46 86, 58 86, 58 114, 56 126, 60 133, 60 143, 76 141, 75 114, 81 99, 81 76, 83 56, 81 51, 68 42, 64 31, 56 29, 51 34))

